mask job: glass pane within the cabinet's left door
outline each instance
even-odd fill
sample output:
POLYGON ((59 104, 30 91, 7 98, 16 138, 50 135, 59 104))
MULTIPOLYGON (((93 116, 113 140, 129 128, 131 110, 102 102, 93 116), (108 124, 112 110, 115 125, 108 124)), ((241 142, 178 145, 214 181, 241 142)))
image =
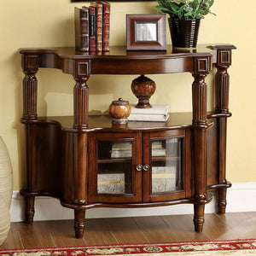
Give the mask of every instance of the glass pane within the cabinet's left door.
POLYGON ((132 144, 98 143, 97 193, 131 194, 132 144))

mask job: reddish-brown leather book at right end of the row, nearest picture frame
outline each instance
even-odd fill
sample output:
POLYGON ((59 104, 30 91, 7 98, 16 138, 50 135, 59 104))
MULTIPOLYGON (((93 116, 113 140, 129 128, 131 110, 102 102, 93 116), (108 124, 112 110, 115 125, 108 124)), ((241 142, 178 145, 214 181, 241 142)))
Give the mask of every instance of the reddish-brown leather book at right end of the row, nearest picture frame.
POLYGON ((102 51, 109 51, 110 3, 103 3, 102 51))

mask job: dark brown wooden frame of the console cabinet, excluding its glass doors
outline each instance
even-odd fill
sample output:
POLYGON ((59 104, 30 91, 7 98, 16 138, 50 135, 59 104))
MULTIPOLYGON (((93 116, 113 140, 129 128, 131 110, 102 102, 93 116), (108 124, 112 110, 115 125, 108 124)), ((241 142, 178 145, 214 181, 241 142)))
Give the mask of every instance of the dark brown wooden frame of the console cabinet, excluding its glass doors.
MULTIPOLYGON (((194 204, 195 231, 204 224, 204 207, 212 195, 207 189, 218 191, 218 212, 224 213, 226 189, 230 183, 225 178, 226 123, 230 117, 229 74, 233 45, 216 45, 197 51, 180 52, 169 47, 166 52, 126 52, 125 47, 112 47, 108 55, 90 55, 73 48, 21 49, 23 79, 23 117, 26 130, 26 186, 20 190, 26 199, 26 222, 32 223, 34 199, 38 195, 59 198, 63 207, 74 209, 76 237, 84 234, 85 210, 91 207, 156 207, 179 203, 194 204), (205 77, 217 67, 215 111, 207 113, 207 84, 205 77), (37 89, 38 68, 58 68, 72 74, 76 84, 73 89, 73 117, 38 117, 37 89), (153 74, 189 72, 194 77, 192 84, 192 116, 172 113, 166 123, 129 122, 126 127, 112 125, 108 116, 88 116, 90 74, 153 74), (191 123, 192 119, 192 123, 191 123), (90 158, 90 140, 94 134, 106 134, 119 138, 163 137, 167 133, 183 133, 186 142, 183 152, 185 194, 151 196, 137 189, 136 199, 120 202, 116 197, 108 201, 97 200, 90 194, 95 172, 90 158), (133 137, 131 136, 133 134, 133 137), (158 135, 157 135, 158 134, 158 135), (157 135, 157 136, 156 136, 157 135), (149 136, 150 137, 150 136, 149 136), (190 146, 189 146, 190 145, 190 146), (207 172, 208 171, 208 172, 207 172), (140 198, 140 200, 137 200, 140 198), (141 199, 143 198, 143 201, 141 199)), ((102 135, 103 136, 103 135, 102 135)), ((147 141, 147 140, 145 140, 147 141)), ((148 140, 149 142, 149 140, 148 140)), ((93 144, 93 143, 92 143, 93 144)), ((142 154, 143 165, 147 164, 148 147, 136 143, 136 154, 142 154), (143 151, 142 151, 143 150, 143 151), (139 153, 141 152, 141 153, 139 153), (142 153, 143 152, 143 153, 142 153)), ((140 159, 140 157, 137 157, 140 159)), ((134 163, 135 166, 137 164, 134 163)), ((147 189, 147 173, 136 174, 135 186, 147 189)))

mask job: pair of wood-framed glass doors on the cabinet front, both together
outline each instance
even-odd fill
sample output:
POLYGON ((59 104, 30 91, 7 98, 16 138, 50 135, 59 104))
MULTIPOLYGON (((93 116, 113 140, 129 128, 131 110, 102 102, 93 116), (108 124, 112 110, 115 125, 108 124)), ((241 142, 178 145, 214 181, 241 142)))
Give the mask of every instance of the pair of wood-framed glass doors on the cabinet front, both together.
POLYGON ((190 141, 189 129, 91 133, 90 203, 191 197, 190 141))

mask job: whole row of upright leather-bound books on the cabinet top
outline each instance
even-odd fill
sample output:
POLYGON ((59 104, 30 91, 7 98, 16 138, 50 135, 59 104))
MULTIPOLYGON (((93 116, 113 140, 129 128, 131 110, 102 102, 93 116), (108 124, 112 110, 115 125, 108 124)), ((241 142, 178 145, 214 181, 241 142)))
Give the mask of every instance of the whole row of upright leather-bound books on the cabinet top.
POLYGON ((80 51, 109 51, 110 3, 75 7, 75 46, 80 51))

